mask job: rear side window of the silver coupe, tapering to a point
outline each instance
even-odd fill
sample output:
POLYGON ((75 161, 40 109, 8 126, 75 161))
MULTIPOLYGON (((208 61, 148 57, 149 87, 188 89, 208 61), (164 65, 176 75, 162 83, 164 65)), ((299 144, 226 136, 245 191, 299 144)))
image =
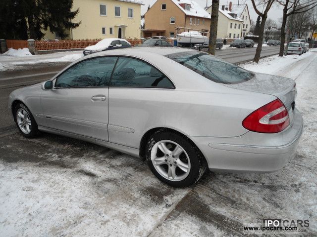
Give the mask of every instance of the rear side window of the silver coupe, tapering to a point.
POLYGON ((110 82, 113 87, 174 88, 172 82, 150 64, 120 57, 110 82))

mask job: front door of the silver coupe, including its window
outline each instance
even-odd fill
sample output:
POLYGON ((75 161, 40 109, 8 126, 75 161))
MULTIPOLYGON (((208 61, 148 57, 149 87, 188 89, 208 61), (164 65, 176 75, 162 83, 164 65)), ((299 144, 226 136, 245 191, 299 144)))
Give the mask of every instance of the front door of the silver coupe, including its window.
POLYGON ((41 95, 46 126, 107 141, 108 84, 116 60, 89 58, 58 75, 41 95))

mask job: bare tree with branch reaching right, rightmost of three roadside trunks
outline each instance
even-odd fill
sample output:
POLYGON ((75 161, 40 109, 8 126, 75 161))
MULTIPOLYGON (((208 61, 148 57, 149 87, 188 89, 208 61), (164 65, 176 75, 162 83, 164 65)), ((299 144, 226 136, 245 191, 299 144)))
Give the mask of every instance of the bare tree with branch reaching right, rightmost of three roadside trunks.
MULTIPOLYGON (((294 14, 306 12, 317 6, 317 0, 276 0, 283 6, 283 18, 281 26, 281 46, 278 56, 282 57, 285 43, 285 27, 287 18, 294 14)), ((288 37, 289 38, 289 37, 288 37)), ((289 39, 287 39, 289 41, 289 39)), ((288 45, 288 44, 287 44, 288 45)), ((287 46, 286 46, 287 51, 287 46)))

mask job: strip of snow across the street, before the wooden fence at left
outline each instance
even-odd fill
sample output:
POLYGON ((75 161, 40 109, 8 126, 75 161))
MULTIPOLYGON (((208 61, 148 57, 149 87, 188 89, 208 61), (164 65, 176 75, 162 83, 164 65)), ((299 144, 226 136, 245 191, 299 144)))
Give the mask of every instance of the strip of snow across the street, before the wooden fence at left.
POLYGON ((72 62, 83 57, 83 51, 64 51, 49 54, 36 54, 32 56, 8 56, 0 54, 0 71, 18 69, 21 65, 72 62))

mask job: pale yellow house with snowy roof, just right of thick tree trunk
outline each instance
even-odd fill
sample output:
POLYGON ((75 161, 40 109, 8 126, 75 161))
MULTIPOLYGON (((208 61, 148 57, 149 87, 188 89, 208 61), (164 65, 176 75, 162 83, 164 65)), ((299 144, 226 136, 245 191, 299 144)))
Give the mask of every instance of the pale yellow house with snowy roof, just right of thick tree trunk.
MULTIPOLYGON (((206 9, 211 14, 211 6, 206 9)), ((241 38, 243 20, 225 8, 219 8, 217 38, 237 39, 241 38)))

